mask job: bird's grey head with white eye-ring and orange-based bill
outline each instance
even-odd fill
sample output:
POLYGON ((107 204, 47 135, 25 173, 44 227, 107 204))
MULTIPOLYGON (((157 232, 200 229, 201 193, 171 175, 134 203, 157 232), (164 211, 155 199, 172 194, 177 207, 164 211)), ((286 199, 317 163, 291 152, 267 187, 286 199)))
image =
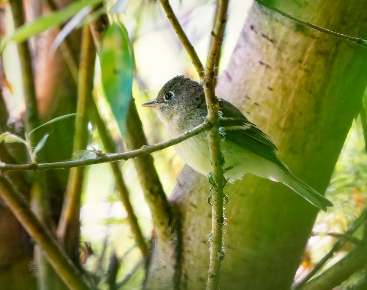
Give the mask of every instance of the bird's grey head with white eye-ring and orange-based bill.
MULTIPOLYGON (((189 121, 194 112, 200 110, 203 105, 205 105, 203 86, 192 78, 178 75, 166 82, 152 102, 144 103, 142 106, 156 109, 164 123, 182 123, 189 121)), ((204 109, 205 115, 206 109, 204 109)))

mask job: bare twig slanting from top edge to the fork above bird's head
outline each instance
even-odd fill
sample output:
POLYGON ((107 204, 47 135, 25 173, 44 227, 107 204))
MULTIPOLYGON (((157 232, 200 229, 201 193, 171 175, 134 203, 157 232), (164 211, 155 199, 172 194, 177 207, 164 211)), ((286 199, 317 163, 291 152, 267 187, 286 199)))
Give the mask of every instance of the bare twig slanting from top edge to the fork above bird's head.
POLYGON ((172 7, 168 0, 159 0, 160 4, 162 5, 164 12, 167 14, 167 18, 170 20, 173 29, 175 29, 177 36, 179 40, 181 41, 183 47, 186 49, 186 52, 189 54, 189 57, 192 61, 192 64, 195 66, 195 69, 197 71, 197 74, 199 75, 200 79, 204 79, 204 67, 201 63, 199 57, 197 56, 197 53, 190 43, 190 40, 188 39, 187 35, 183 31, 180 23, 178 22, 178 19, 176 15, 174 14, 172 7))

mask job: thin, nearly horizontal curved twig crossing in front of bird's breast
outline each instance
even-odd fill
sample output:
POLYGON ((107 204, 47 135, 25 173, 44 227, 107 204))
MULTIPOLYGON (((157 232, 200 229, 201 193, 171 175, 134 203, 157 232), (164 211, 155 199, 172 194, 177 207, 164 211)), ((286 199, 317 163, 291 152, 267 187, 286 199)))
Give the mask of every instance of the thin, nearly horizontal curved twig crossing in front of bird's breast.
POLYGON ((113 162, 118 160, 128 160, 131 158, 137 158, 139 156, 147 155, 162 149, 166 149, 172 145, 181 143, 182 141, 185 141, 190 137, 200 134, 203 131, 210 130, 211 127, 212 125, 210 123, 204 122, 203 124, 200 124, 199 126, 193 128, 192 130, 189 130, 171 140, 157 143, 155 145, 143 146, 140 149, 128 152, 101 155, 98 156, 97 158, 51 162, 51 163, 29 163, 29 164, 7 164, 0 162, 0 172, 14 171, 14 170, 69 169, 78 166, 87 166, 93 164, 113 162))

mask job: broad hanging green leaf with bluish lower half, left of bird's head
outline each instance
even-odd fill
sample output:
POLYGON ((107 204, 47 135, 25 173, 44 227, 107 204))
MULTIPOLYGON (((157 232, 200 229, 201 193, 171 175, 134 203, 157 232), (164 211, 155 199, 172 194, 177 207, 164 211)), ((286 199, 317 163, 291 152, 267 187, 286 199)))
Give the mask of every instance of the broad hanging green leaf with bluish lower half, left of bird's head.
POLYGON ((124 26, 116 23, 107 29, 101 47, 102 85, 121 133, 132 96, 130 40, 124 26))

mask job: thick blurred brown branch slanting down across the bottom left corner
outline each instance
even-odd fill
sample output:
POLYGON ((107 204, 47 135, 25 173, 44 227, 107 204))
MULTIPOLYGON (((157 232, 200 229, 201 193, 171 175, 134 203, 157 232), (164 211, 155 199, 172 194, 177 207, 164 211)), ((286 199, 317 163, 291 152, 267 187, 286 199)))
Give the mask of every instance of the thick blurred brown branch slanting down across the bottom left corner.
POLYGON ((66 255, 57 239, 31 211, 25 197, 3 174, 0 174, 0 196, 28 234, 41 245, 48 262, 69 289, 92 289, 86 277, 66 255))

